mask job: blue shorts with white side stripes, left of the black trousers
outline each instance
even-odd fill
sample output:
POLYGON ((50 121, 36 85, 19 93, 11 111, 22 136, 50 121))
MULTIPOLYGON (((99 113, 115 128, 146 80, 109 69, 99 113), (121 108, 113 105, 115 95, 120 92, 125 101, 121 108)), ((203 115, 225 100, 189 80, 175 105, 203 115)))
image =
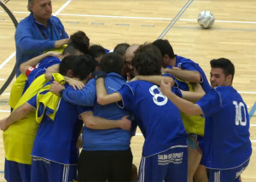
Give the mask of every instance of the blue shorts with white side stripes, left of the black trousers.
POLYGON ((31 181, 73 181, 77 179, 77 165, 52 162, 41 157, 32 157, 31 181))

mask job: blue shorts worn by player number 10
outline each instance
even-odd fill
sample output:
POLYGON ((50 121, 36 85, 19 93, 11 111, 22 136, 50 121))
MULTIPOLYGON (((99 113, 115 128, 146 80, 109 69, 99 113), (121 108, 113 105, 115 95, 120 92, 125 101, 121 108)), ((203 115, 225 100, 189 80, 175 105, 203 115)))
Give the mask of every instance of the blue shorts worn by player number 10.
POLYGON ((249 161, 248 159, 241 166, 232 169, 220 170, 208 168, 209 182, 241 182, 239 177, 244 169, 247 168, 249 161))

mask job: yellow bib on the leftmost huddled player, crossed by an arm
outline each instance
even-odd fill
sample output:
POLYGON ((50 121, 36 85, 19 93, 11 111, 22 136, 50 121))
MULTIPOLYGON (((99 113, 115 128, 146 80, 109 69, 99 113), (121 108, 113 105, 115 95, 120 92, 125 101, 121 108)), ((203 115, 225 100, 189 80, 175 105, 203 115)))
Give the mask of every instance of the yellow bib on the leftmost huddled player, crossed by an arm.
MULTIPOLYGON (((46 82, 48 80, 44 78, 44 75, 37 77, 31 86, 26 89, 20 100, 18 102, 12 101, 11 105, 17 109, 20 105, 23 105, 34 95, 38 94, 38 91, 46 82)), ((10 97, 13 96, 12 94, 15 94, 15 92, 11 93, 10 97)), ((15 96, 14 98, 18 97, 15 96)), ((25 118, 13 123, 3 132, 3 145, 7 160, 23 164, 32 163, 32 145, 39 126, 38 122, 35 122, 35 113, 35 111, 29 112, 25 118)))

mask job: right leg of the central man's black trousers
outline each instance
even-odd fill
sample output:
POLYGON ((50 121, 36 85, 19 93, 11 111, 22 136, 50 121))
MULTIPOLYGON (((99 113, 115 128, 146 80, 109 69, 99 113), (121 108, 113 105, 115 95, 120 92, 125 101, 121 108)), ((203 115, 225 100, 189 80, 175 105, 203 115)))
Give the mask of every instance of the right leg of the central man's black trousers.
POLYGON ((108 181, 131 181, 132 154, 131 149, 125 151, 109 151, 108 181), (111 155, 110 155, 111 153, 111 155))

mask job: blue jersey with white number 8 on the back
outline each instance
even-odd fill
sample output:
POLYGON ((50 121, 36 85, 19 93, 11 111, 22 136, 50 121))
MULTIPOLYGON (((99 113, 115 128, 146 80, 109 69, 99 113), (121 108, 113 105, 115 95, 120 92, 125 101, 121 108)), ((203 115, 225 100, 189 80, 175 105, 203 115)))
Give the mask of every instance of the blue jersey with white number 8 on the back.
POLYGON ((186 133, 177 106, 160 93, 152 82, 134 81, 119 89, 123 106, 138 118, 145 142, 143 156, 186 145, 186 133))

